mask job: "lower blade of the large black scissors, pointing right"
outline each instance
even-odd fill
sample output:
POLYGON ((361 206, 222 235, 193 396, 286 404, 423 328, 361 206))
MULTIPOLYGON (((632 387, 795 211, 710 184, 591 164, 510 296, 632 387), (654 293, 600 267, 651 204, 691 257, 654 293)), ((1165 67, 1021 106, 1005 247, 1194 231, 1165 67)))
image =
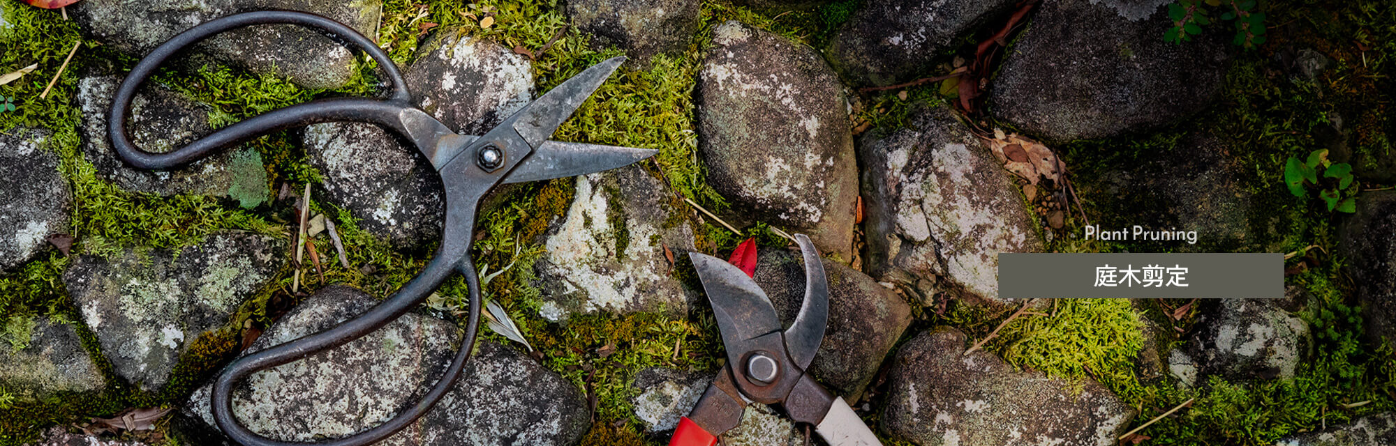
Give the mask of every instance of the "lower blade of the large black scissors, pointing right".
POLYGON ((546 141, 533 155, 504 177, 504 183, 528 183, 585 176, 593 171, 630 166, 659 151, 621 148, 585 142, 546 141))

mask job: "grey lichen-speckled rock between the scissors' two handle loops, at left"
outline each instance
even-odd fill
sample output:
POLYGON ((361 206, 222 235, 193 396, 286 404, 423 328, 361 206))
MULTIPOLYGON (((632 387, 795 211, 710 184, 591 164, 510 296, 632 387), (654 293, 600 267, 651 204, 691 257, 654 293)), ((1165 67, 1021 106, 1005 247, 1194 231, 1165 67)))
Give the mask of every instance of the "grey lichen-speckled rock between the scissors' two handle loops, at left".
POLYGON ((282 240, 225 231, 179 249, 82 255, 63 282, 113 371, 155 390, 194 340, 279 273, 283 251, 282 240))

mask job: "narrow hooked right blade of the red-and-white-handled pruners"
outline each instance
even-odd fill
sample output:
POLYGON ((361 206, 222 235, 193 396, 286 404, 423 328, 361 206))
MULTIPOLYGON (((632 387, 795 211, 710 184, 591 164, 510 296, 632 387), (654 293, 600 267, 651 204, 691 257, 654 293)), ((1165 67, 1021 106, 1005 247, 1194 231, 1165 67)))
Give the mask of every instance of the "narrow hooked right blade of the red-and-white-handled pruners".
POLYGON ((804 255, 804 304, 800 304, 800 314, 785 332, 785 339, 790 358, 800 368, 810 368, 810 361, 814 361, 814 354, 824 341, 824 328, 829 322, 829 280, 824 275, 819 249, 814 248, 810 237, 794 234, 794 241, 800 244, 800 254, 804 255))

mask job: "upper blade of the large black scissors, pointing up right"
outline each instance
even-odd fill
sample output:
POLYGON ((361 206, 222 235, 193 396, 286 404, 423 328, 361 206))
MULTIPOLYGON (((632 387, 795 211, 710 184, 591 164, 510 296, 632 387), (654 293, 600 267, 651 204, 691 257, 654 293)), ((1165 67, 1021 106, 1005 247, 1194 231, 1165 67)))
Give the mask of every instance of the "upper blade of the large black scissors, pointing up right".
POLYGON ((625 56, 607 59, 553 88, 510 118, 514 131, 537 149, 624 61, 625 56))

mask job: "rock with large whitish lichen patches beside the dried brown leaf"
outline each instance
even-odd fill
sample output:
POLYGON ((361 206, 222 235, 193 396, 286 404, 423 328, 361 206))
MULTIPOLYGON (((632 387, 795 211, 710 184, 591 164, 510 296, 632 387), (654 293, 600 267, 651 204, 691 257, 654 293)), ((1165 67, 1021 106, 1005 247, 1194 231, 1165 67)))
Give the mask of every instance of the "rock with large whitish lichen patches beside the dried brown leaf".
POLYGON ((1022 195, 948 109, 863 137, 866 270, 909 295, 998 300, 998 254, 1043 249, 1022 195))

